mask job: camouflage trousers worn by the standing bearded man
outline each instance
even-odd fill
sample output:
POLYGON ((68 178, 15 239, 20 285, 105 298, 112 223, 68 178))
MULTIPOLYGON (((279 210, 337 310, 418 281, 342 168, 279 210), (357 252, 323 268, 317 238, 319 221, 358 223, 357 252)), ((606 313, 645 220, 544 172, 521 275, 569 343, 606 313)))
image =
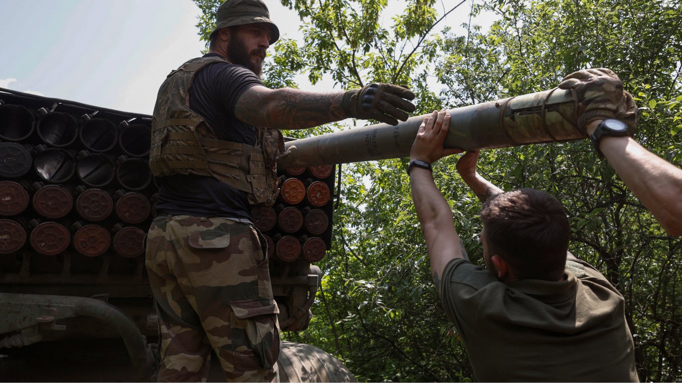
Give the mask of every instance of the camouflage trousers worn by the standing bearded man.
POLYGON ((159 382, 205 382, 211 349, 228 382, 277 380, 279 311, 264 254, 249 224, 153 220, 146 265, 160 325, 159 382))

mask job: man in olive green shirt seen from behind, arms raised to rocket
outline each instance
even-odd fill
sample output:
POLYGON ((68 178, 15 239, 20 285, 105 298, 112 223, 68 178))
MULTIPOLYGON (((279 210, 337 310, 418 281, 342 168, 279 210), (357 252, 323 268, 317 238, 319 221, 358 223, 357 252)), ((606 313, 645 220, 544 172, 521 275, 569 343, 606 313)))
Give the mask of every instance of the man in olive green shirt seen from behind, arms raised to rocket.
POLYGON ((462 179, 483 200, 487 270, 471 264, 430 163, 443 149, 449 115, 419 127, 408 168, 434 283, 480 381, 637 382, 623 296, 568 253, 566 213, 544 191, 503 192, 462 155, 462 179))

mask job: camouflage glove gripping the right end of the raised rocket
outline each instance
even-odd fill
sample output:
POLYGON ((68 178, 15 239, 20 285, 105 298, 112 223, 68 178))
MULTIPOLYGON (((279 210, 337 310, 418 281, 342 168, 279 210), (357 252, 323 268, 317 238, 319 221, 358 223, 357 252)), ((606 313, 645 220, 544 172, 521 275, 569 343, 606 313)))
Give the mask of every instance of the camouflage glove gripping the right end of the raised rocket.
POLYGON ((634 132, 637 125, 637 106, 632 95, 623 91, 617 74, 605 68, 579 70, 569 74, 560 89, 569 89, 576 101, 578 129, 585 133, 585 125, 601 119, 618 119, 634 132))

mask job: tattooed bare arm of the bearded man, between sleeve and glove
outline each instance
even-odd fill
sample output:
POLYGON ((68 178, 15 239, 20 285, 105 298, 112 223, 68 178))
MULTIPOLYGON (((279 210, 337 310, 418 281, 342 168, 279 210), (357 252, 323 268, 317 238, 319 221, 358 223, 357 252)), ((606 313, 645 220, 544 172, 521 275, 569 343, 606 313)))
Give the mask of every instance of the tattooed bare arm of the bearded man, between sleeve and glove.
POLYGON ((299 89, 252 87, 239 97, 235 115, 250 125, 306 129, 346 118, 344 92, 316 93, 299 89))

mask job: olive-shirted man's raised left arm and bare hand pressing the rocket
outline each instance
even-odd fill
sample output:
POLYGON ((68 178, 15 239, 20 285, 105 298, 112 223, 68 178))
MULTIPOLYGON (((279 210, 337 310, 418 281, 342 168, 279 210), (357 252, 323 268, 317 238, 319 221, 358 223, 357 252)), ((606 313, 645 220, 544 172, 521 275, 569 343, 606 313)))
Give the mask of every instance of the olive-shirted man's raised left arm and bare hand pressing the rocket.
MULTIPOLYGON (((443 155, 458 153, 457 149, 443 149, 449 123, 450 116, 444 111, 433 112, 424 119, 410 153, 410 162, 420 160, 431 164, 443 155)), ((447 262, 454 258, 468 257, 455 230, 450 206, 436 187, 432 172, 426 168, 411 166, 409 174, 412 199, 424 233, 433 281, 440 291, 440 277, 447 262)))

